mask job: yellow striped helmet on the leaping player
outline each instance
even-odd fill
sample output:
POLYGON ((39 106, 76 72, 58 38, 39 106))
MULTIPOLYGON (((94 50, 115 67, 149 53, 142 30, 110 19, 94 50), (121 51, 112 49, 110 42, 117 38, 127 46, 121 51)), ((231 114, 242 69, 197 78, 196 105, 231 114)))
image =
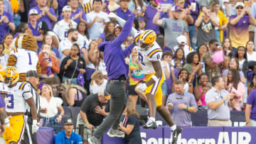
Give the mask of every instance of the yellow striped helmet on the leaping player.
POLYGON ((139 47, 141 50, 148 50, 156 41, 156 33, 152 30, 146 30, 139 35, 139 47))

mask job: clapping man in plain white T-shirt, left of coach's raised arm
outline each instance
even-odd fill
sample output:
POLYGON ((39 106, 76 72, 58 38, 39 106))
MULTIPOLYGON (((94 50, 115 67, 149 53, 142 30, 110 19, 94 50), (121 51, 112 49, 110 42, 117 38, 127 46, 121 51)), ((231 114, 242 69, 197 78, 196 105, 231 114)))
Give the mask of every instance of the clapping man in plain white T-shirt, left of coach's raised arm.
POLYGON ((92 40, 97 40, 102 33, 102 27, 110 21, 110 18, 108 18, 107 13, 102 11, 101 0, 94 0, 92 6, 93 11, 86 15, 87 28, 89 28, 89 35, 92 40))

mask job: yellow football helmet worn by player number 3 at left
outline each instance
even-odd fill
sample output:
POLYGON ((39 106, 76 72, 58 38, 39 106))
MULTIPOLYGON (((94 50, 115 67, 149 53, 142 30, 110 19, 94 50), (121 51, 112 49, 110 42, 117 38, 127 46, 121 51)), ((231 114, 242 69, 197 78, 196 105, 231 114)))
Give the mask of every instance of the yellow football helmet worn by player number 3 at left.
POLYGON ((6 83, 7 86, 16 84, 16 82, 18 82, 18 78, 18 70, 15 67, 6 67, 4 83, 6 83))

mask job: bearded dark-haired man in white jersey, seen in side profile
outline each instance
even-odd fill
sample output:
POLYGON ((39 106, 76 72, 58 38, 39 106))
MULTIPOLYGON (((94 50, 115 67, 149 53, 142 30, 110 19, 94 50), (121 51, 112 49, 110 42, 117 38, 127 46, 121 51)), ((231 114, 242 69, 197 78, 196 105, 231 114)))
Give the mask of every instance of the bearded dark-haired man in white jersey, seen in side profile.
POLYGON ((66 56, 70 55, 70 49, 77 40, 78 30, 75 28, 70 28, 68 30, 68 39, 62 40, 58 48, 60 52, 60 63, 66 56))

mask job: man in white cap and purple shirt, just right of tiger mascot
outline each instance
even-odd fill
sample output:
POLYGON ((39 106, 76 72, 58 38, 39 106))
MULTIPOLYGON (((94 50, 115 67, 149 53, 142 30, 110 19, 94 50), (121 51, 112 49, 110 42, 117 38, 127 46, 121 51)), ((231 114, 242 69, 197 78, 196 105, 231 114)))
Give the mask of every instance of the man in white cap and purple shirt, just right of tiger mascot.
POLYGON ((31 29, 34 38, 36 38, 37 40, 38 48, 41 48, 43 34, 39 33, 38 31, 37 16, 38 16, 38 11, 36 11, 36 9, 31 9, 28 12, 28 21, 29 21, 28 27, 31 29))

